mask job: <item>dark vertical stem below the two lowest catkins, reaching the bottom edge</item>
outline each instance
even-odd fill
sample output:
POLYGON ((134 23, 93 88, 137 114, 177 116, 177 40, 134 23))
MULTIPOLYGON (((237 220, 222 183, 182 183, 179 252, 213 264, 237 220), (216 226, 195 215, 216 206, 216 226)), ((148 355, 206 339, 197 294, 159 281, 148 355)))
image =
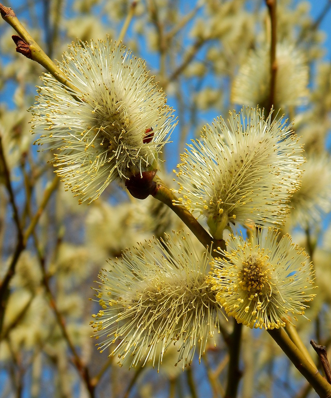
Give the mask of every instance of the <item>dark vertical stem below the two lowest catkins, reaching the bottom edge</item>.
POLYGON ((238 392, 238 384, 241 378, 239 370, 240 343, 241 343, 242 324, 234 321, 233 332, 230 336, 231 343, 229 347, 229 367, 228 380, 226 385, 225 398, 235 398, 238 392))

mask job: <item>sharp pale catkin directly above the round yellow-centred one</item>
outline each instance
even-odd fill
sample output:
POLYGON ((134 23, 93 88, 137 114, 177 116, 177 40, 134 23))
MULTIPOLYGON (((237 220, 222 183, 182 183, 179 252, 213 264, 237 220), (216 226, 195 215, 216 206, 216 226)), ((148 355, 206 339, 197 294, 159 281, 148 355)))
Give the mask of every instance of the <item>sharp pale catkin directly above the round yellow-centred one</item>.
POLYGON ((291 126, 260 109, 230 113, 207 126, 181 155, 177 205, 207 219, 222 239, 229 223, 283 224, 290 194, 300 186, 302 148, 291 126))

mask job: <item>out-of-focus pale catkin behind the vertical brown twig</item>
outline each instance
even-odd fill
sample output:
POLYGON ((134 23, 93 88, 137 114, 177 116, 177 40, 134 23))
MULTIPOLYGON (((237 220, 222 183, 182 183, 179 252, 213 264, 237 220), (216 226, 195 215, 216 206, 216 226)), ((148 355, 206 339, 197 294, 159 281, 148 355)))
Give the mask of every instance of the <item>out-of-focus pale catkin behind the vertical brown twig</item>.
MULTIPOLYGON (((308 97, 309 69, 302 53, 288 43, 276 45, 277 72, 274 109, 302 105, 308 97)), ((267 107, 270 96, 270 49, 252 50, 239 69, 231 101, 239 105, 267 107)))

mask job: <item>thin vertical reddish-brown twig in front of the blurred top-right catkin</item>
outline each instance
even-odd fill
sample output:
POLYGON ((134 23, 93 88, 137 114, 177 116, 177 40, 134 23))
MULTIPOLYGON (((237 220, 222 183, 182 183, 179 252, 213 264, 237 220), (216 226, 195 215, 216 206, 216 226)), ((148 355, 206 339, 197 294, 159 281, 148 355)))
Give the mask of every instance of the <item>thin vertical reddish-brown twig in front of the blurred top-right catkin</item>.
POLYGON ((269 92, 269 102, 268 102, 268 108, 270 111, 271 107, 275 105, 275 85, 276 85, 276 73, 277 73, 277 60, 276 60, 277 16, 276 16, 276 0, 265 0, 265 2, 267 4, 271 20, 270 92, 269 92))

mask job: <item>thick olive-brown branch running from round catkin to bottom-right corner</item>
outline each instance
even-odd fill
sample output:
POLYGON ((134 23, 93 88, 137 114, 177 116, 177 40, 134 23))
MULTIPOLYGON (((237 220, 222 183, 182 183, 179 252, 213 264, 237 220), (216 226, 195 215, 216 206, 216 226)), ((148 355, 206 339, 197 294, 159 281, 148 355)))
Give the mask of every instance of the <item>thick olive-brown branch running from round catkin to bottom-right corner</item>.
POLYGON ((288 337, 283 328, 269 329, 268 333, 276 341, 279 347, 288 356, 296 369, 312 385, 313 389, 321 398, 331 397, 331 385, 322 377, 315 367, 308 361, 304 354, 298 349, 288 337))

